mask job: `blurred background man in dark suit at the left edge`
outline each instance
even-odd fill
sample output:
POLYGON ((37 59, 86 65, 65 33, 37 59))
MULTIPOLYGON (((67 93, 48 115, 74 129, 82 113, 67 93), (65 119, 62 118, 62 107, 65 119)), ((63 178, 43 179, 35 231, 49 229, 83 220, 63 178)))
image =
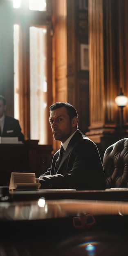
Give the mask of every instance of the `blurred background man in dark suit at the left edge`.
POLYGON ((18 137, 19 141, 24 141, 19 121, 5 114, 6 100, 0 95, 0 137, 18 137))

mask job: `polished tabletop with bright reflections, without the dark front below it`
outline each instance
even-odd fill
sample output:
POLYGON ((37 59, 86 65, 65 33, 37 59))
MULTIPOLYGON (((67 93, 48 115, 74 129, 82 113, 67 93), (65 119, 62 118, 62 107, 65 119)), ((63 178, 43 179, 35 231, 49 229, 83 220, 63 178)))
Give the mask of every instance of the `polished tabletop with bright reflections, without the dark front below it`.
POLYGON ((9 191, 0 187, 0 220, 39 220, 93 215, 128 215, 128 189, 9 191))

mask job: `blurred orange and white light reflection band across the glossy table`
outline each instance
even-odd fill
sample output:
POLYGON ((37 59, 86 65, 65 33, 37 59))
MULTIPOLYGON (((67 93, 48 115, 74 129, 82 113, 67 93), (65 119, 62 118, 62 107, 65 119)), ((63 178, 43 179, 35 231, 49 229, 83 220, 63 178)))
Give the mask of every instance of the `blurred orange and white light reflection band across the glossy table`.
POLYGON ((0 202, 0 220, 40 220, 97 215, 128 215, 128 202, 97 200, 45 200, 0 202))

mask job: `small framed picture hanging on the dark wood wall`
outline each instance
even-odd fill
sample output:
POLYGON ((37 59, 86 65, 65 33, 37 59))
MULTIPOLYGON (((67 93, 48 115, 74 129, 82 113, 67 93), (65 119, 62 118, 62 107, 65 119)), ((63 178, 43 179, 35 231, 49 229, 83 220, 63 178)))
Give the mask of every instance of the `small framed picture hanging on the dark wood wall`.
POLYGON ((88 45, 81 44, 80 45, 80 65, 81 70, 89 70, 88 66, 88 45))

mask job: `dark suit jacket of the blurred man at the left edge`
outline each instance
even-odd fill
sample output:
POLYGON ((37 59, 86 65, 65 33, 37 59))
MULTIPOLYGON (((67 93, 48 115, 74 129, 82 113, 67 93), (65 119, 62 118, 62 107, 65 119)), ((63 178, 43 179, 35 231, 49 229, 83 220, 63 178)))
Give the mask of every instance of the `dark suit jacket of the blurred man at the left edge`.
POLYGON ((5 115, 2 137, 18 137, 19 141, 24 141, 24 135, 17 119, 5 115))

